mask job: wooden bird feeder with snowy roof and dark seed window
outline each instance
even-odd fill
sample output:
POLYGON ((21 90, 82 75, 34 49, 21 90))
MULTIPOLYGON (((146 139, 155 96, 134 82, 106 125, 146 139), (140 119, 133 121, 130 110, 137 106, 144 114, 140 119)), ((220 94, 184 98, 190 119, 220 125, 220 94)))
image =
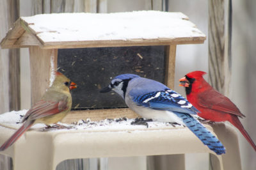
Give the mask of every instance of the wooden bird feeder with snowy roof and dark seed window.
POLYGON ((31 104, 49 87, 52 70, 58 68, 77 83, 72 114, 63 120, 70 123, 137 117, 122 108, 119 97, 99 89, 120 73, 173 88, 176 46, 204 40, 204 33, 179 12, 59 13, 20 17, 1 47, 29 48, 31 104), (121 108, 106 109, 116 107, 121 108))

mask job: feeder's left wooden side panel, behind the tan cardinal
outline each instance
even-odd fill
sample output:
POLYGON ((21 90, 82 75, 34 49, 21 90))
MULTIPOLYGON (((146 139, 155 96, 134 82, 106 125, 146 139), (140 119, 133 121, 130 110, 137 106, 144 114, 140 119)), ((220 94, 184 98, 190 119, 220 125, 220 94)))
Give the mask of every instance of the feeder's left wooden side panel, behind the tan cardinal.
POLYGON ((40 100, 49 87, 51 71, 57 68, 57 49, 43 50, 40 47, 29 47, 31 72, 31 105, 40 100))

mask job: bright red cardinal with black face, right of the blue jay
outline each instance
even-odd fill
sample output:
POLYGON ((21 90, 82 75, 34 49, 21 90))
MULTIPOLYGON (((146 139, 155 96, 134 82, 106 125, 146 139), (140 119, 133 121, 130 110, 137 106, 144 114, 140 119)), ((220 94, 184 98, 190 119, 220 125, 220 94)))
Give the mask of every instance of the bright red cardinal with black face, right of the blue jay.
POLYGON ((205 72, 195 71, 190 72, 182 77, 180 86, 186 88, 187 99, 193 104, 198 112, 198 116, 205 120, 211 121, 229 121, 244 135, 247 141, 252 145, 256 151, 255 143, 253 143, 250 135, 244 130, 244 127, 239 121, 239 118, 245 117, 236 105, 224 95, 221 95, 218 91, 208 84, 203 75, 205 72))

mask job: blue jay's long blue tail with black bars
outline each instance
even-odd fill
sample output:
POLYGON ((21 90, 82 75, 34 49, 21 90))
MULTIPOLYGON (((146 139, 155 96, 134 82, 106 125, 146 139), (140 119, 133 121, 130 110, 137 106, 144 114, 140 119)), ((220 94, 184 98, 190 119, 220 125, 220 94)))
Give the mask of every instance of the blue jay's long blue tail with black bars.
POLYGON ((195 120, 191 115, 175 112, 179 118, 182 118, 184 125, 188 127, 208 148, 217 155, 225 153, 223 144, 199 121, 195 120))

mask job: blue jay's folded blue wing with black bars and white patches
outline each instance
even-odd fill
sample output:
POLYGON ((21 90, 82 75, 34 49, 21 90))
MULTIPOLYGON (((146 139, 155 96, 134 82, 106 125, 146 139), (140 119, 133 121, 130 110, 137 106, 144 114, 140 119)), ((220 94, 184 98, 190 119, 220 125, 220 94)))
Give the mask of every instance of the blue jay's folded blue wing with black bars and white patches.
POLYGON ((179 93, 172 89, 162 91, 154 91, 144 95, 133 97, 132 100, 137 105, 149 107, 151 109, 166 110, 173 112, 182 112, 188 114, 196 114, 199 112, 192 104, 182 97, 179 93))

